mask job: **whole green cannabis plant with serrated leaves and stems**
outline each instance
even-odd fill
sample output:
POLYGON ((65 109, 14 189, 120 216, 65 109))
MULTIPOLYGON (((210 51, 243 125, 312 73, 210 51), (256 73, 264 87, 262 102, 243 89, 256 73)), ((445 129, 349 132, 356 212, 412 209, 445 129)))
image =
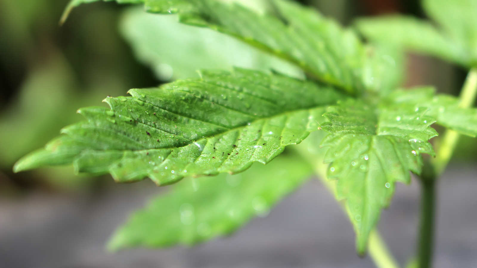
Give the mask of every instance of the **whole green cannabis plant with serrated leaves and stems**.
MULTIPOLYGON (((72 0, 62 21, 75 6, 93 1, 72 0)), ((21 158, 15 172, 73 164, 76 173, 110 173, 123 183, 149 177, 158 186, 188 177, 116 232, 109 247, 118 249, 228 234, 254 215, 267 215, 314 170, 342 200, 358 253, 369 244, 380 267, 397 265, 373 229, 395 182, 409 184, 412 172, 423 188, 418 263, 430 266, 435 181, 458 135, 477 135, 477 110, 470 108, 477 71, 470 71, 459 98, 432 87, 396 89, 399 55, 393 58, 385 46, 365 44, 352 29, 289 0, 270 0, 265 12, 220 0, 117 2, 178 14, 181 23, 230 35, 298 66, 304 76, 204 70, 200 78, 107 97, 109 109, 79 109, 87 121, 63 128, 21 158), (446 128, 444 138, 435 139, 436 152, 429 142, 437 136, 433 124, 446 128), (306 148, 290 146, 280 155, 302 142, 306 148), (206 175, 218 176, 200 177, 206 175)), ((442 28, 401 17, 359 21, 358 28, 372 40, 474 67, 477 1, 425 4, 442 28)))

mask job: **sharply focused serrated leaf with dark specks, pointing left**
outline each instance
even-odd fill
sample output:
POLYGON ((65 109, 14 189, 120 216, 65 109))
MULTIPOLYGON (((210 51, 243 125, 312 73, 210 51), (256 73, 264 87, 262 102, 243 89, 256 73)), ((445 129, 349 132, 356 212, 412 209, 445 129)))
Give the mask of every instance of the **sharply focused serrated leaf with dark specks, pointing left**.
POLYGON ((78 173, 109 172, 118 182, 148 176, 158 185, 237 173, 300 143, 324 107, 343 98, 330 87, 244 69, 129 93, 106 98, 111 110, 80 109, 88 122, 65 127, 14 171, 73 163, 78 173))

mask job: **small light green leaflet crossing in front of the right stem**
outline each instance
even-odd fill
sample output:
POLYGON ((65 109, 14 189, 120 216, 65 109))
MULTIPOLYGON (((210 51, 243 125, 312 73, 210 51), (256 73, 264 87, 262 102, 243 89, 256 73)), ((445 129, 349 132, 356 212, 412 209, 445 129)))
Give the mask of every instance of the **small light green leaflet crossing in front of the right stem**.
POLYGON ((447 94, 436 94, 433 87, 397 90, 388 100, 391 105, 406 103, 414 107, 427 107, 426 113, 443 125, 460 134, 477 136, 477 109, 459 107, 459 100, 447 94))

